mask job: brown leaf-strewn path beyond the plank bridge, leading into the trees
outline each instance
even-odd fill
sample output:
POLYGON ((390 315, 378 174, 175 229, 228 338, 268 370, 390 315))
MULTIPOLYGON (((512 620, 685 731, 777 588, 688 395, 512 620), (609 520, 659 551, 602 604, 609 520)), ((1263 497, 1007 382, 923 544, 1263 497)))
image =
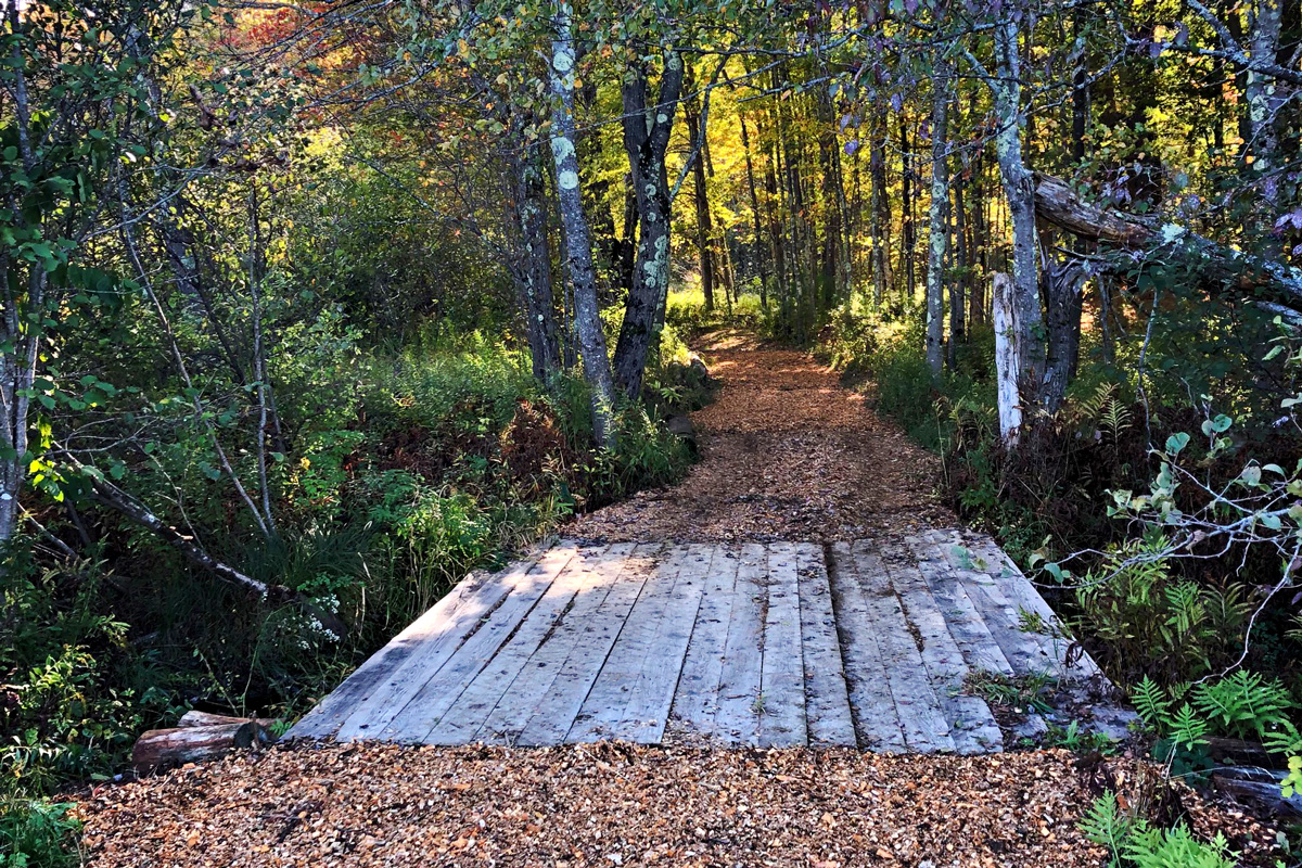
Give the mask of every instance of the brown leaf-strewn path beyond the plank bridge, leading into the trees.
POLYGON ((717 400, 693 414, 702 461, 673 488, 598 510, 600 540, 836 540, 954 527, 939 461, 812 357, 732 331, 700 342, 717 400))

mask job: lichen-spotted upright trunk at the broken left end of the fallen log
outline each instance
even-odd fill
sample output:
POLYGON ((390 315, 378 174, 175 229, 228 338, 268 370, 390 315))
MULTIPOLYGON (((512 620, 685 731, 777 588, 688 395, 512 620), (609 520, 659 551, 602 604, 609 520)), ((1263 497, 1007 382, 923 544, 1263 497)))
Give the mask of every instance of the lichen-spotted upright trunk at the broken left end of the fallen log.
POLYGON ((1044 315, 1040 312, 1036 269, 1039 245, 1035 233, 1035 180, 1022 159, 1018 25, 1012 18, 995 29, 995 55, 999 68, 990 82, 995 91, 995 120, 999 124, 995 151, 1013 229, 1013 346, 1017 353, 1018 390, 1022 402, 1030 406, 1044 380, 1044 315))

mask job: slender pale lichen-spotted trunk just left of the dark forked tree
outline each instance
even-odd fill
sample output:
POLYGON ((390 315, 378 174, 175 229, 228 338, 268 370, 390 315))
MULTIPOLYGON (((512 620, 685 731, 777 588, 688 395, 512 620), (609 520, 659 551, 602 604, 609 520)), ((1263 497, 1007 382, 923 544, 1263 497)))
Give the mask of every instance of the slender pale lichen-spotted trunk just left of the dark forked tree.
POLYGON ((583 215, 578 154, 574 148, 574 16, 568 0, 556 4, 556 30, 548 68, 552 95, 552 160, 556 164, 556 210, 565 230, 565 263, 574 294, 574 329, 578 334, 583 379, 592 389, 592 433, 603 446, 615 445, 615 377, 602 331, 592 267, 592 233, 583 215))

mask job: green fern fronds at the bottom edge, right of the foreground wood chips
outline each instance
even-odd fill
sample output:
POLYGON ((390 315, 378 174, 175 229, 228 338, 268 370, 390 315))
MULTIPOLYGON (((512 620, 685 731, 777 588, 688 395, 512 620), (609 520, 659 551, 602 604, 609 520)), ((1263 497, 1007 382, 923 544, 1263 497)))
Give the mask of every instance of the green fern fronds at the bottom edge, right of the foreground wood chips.
POLYGON ((1107 848, 1112 868, 1233 868, 1236 864, 1224 835, 1200 842, 1185 825, 1154 828, 1143 817, 1122 811, 1111 791, 1094 800, 1079 825, 1090 841, 1107 848))

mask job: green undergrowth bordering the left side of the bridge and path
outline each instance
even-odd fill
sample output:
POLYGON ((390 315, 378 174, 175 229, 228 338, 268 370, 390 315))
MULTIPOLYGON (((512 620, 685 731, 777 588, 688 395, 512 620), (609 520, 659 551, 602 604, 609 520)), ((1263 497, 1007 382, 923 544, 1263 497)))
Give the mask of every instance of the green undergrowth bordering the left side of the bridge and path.
MULTIPOLYGON (((652 388, 706 400, 677 349, 650 371, 652 388)), ((306 605, 259 605, 112 515, 79 513, 94 557, 56 569, 33 557, 46 540, 17 540, 0 571, 0 867, 64 864, 74 824, 44 799, 117 773, 143 729, 190 707, 293 718, 469 570, 677 480, 691 455, 663 424, 671 403, 621 406, 617 445, 599 449, 583 381, 538 383, 496 341, 358 357, 348 380, 285 414, 293 448, 270 468, 276 534, 238 532, 220 496, 191 505, 215 513, 210 549, 306 605)), ((184 450, 159 452, 164 471, 185 472, 184 450)), ((48 524, 68 515, 42 508, 48 524)))

